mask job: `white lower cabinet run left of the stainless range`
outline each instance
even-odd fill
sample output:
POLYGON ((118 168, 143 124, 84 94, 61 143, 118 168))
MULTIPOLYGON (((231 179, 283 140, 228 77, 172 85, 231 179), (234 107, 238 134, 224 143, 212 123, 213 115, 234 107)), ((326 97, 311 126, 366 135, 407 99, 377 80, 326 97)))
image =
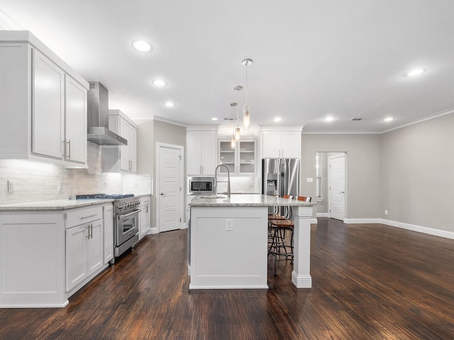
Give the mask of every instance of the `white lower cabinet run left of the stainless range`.
POLYGON ((112 203, 43 209, 0 210, 0 308, 65 307, 114 256, 112 203))

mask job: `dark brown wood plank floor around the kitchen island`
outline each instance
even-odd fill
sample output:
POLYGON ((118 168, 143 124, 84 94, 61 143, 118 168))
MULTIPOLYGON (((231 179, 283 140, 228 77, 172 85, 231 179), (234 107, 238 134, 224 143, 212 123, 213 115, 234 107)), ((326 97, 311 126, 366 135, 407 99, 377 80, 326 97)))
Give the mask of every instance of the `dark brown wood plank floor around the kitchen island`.
POLYGON ((0 339, 454 339, 454 241, 312 226, 313 288, 189 291, 187 232, 146 237, 60 309, 0 310, 0 339))

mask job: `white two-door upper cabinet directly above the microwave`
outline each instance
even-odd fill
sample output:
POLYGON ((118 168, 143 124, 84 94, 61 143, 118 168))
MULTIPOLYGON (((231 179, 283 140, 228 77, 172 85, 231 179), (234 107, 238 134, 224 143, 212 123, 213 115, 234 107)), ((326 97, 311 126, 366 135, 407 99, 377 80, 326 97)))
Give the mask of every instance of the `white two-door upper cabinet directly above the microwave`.
POLYGON ((188 176, 214 175, 217 159, 216 130, 186 130, 188 176))

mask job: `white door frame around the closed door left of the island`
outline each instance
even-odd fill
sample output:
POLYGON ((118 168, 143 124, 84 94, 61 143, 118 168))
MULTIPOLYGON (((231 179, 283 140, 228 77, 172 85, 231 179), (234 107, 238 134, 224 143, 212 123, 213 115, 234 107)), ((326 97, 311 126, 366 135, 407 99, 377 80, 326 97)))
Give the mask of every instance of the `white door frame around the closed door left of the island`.
POLYGON ((179 229, 184 229, 184 208, 186 206, 186 200, 183 200, 184 198, 184 147, 181 145, 173 145, 173 144, 167 144, 167 143, 160 143, 156 142, 156 164, 155 164, 155 229, 156 232, 160 232, 160 148, 161 147, 166 147, 168 149, 178 149, 180 151, 182 161, 181 161, 181 166, 179 167, 179 179, 180 179, 180 185, 181 185, 181 190, 179 191, 179 206, 180 206, 180 216, 181 216, 181 222, 179 223, 179 229))

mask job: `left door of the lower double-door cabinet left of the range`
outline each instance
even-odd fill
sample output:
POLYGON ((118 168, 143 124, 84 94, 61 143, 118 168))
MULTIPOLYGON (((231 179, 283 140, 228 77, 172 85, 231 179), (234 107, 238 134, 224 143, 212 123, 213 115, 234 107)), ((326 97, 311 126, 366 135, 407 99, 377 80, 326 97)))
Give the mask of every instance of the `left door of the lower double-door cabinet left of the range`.
POLYGON ((66 290, 69 292, 88 276, 87 225, 66 230, 66 290))

